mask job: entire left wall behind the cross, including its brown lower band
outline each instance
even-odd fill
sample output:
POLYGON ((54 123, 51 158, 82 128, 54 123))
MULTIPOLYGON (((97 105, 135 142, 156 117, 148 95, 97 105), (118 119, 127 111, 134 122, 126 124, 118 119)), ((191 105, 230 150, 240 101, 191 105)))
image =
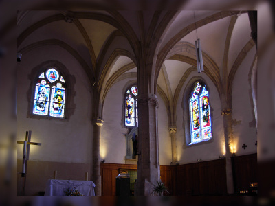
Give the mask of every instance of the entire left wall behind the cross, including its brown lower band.
MULTIPOLYGON (((17 140, 25 140, 25 133, 32 131, 33 142, 41 146, 30 146, 26 195, 37 195, 43 191, 47 179, 83 179, 90 171, 92 159, 91 88, 87 74, 80 63, 69 52, 58 45, 47 45, 23 54, 17 69, 17 140), (69 78, 65 81, 71 89, 67 91, 65 119, 32 115, 31 101, 34 93, 32 76, 39 74, 43 62, 58 62, 65 67, 69 78)), ((23 144, 17 145, 17 172, 21 172, 23 144)), ((21 175, 17 175, 20 190, 21 175)))

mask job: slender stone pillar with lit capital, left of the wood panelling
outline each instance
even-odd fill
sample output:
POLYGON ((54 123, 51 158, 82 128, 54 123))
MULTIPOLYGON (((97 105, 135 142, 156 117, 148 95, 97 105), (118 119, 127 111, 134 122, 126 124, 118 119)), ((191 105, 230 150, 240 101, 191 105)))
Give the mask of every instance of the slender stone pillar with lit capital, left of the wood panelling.
POLYGON ((93 141, 93 176, 92 180, 96 184, 96 196, 101 196, 101 176, 100 176, 100 134, 101 126, 103 125, 102 118, 97 118, 94 126, 94 141, 93 141))

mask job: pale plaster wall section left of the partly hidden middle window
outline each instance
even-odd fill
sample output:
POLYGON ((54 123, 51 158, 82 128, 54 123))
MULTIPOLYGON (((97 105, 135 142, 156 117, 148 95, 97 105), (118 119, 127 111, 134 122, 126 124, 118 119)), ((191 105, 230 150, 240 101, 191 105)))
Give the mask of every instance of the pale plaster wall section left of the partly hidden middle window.
MULTIPOLYGON (((106 95, 103 106, 104 123, 101 128, 100 157, 106 163, 125 163, 127 128, 124 128, 124 86, 129 80, 124 79, 113 84, 106 95)), ((101 160, 102 160, 101 159, 101 160)))

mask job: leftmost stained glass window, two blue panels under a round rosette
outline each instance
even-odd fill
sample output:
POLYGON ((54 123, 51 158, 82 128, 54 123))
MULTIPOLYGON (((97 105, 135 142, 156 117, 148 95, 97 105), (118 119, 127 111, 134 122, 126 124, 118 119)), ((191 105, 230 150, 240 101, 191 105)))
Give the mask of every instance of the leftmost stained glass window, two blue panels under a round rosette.
POLYGON ((54 68, 39 74, 34 91, 34 115, 65 117, 65 80, 54 68))

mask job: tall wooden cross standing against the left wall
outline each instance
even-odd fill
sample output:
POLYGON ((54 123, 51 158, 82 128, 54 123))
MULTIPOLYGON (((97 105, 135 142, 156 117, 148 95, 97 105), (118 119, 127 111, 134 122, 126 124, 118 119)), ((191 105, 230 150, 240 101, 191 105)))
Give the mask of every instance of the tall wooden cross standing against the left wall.
MULTIPOLYGON (((25 136, 25 141, 17 141, 17 144, 23 144, 23 163, 22 163, 22 172, 21 172, 21 176, 25 177, 24 179, 24 183, 23 183, 23 191, 21 189, 21 195, 25 194, 25 183, 26 183, 26 174, 27 174, 27 165, 28 165, 28 160, 29 160, 29 156, 30 156, 30 145, 41 145, 41 143, 36 143, 36 142, 31 142, 32 136, 32 131, 27 131, 26 132, 26 136, 25 136)), ((22 182, 21 182, 21 186, 22 186, 22 182)), ((22 188, 22 187, 21 187, 22 188)))

